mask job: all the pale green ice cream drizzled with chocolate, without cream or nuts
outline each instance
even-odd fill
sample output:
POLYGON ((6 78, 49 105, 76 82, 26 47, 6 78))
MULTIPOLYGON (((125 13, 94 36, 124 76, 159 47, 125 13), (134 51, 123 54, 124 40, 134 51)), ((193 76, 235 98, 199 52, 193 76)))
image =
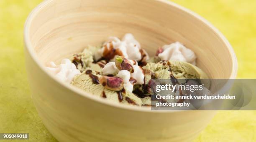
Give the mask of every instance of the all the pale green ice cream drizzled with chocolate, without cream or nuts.
MULTIPOLYGON (((151 105, 152 92, 149 90, 152 79, 171 80, 175 78, 185 80, 208 78, 202 70, 187 62, 174 60, 159 61, 156 58, 151 58, 151 60, 149 60, 148 63, 142 67, 145 75, 143 85, 134 85, 132 92, 125 90, 125 87, 118 91, 111 90, 111 88, 105 86, 105 82, 102 83, 100 81, 102 77, 107 77, 102 73, 102 67, 104 67, 107 61, 100 60, 97 63, 94 62, 93 54, 97 50, 97 47, 88 46, 84 49, 83 52, 73 55, 72 61, 77 66, 77 69, 82 72, 82 74, 74 77, 74 80, 71 84, 92 95, 96 95, 113 102, 139 106, 151 105), (89 74, 87 72, 88 70, 90 70, 89 74)), ((122 68, 119 67, 119 70, 122 70, 122 68)), ((115 81, 113 84, 115 84, 115 81)))

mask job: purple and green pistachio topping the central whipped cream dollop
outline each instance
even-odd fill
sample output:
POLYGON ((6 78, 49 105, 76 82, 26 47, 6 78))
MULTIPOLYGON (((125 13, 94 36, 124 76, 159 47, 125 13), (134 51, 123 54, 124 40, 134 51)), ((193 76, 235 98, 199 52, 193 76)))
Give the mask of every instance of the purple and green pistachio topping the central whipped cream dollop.
POLYGON ((118 70, 128 70, 131 73, 134 72, 131 62, 122 56, 115 58, 115 66, 118 68, 118 70))

